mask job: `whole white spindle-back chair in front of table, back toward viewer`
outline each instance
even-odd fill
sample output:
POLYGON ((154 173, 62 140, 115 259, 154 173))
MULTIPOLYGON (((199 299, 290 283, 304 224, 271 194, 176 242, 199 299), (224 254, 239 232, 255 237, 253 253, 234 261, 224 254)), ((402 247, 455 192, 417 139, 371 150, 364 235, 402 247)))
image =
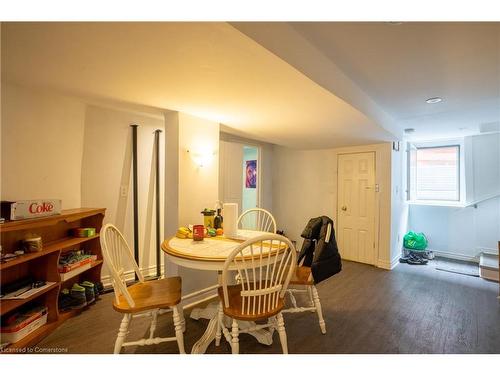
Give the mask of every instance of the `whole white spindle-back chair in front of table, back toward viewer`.
POLYGON ((281 309, 284 294, 295 271, 297 254, 286 237, 265 234, 243 242, 227 258, 222 271, 215 345, 220 345, 222 334, 231 345, 233 354, 239 353, 240 333, 269 328, 277 329, 284 354, 288 354, 285 324, 281 309), (239 284, 228 285, 236 271, 239 284), (224 316, 231 318, 231 332, 224 324, 224 316), (252 328, 240 329, 238 320, 261 321, 252 328))

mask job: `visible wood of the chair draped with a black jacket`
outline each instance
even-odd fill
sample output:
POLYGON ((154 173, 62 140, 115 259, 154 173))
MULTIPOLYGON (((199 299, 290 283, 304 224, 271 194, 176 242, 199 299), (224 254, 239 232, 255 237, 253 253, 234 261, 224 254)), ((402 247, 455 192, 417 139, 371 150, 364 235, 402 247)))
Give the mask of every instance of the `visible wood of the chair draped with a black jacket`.
MULTIPOLYGON (((330 224, 328 224, 325 242, 330 241, 331 234, 332 229, 330 224)), ((295 268, 295 272, 290 280, 290 286, 291 287, 288 288, 287 293, 290 297, 290 301, 292 302, 292 307, 284 309, 283 313, 301 313, 306 311, 315 312, 318 315, 321 333, 326 334, 326 323, 323 318, 323 311, 321 309, 321 301, 319 300, 318 290, 314 285, 311 267, 298 265, 295 268), (303 286, 305 288, 298 289, 294 288, 294 286, 303 286), (298 306, 294 293, 307 293, 309 296, 309 306, 298 306)))

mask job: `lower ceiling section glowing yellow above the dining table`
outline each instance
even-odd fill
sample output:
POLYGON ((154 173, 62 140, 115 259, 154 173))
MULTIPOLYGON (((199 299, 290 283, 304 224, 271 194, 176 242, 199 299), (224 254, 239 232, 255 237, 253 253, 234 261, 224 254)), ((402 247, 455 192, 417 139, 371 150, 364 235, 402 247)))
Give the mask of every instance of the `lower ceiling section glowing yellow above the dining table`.
POLYGON ((183 111, 295 148, 394 138, 227 23, 3 23, 2 80, 183 111))

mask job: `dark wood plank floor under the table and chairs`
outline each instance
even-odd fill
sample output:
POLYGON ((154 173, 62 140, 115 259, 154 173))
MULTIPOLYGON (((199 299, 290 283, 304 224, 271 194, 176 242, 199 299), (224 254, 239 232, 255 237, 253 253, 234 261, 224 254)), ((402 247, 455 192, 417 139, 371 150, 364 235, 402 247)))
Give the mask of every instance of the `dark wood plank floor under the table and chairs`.
MULTIPOLYGON (((498 284, 483 279, 400 264, 393 271, 344 262, 342 272, 318 285, 327 324, 319 330, 313 313, 285 315, 288 348, 299 353, 500 353, 498 284)), ((70 319, 39 347, 67 348, 68 353, 112 353, 121 315, 111 307, 113 294, 70 319)), ((203 334, 207 320, 195 321, 185 311, 186 351, 203 334)), ((173 335, 170 315, 158 331, 173 335)), ((130 338, 146 337, 148 324, 132 322, 130 338)), ((129 347, 124 353, 177 353, 175 342, 129 347)), ((212 344, 208 353, 229 353, 229 345, 212 344)), ((240 335, 241 353, 281 353, 240 335)))

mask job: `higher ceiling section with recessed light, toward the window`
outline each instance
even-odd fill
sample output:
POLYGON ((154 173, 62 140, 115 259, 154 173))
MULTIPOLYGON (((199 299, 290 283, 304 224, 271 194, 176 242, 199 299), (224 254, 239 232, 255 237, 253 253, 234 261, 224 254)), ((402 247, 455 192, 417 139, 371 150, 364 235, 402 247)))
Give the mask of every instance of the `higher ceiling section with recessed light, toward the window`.
POLYGON ((500 120, 500 23, 233 25, 377 118, 365 103, 356 104, 338 81, 326 78, 328 71, 342 71, 389 116, 393 132, 415 128, 413 138, 435 139, 474 134, 482 123, 500 120), (297 49, 308 53, 299 54, 297 49), (323 65, 317 62, 322 58, 327 60, 323 65), (443 101, 425 102, 436 96, 443 101))

